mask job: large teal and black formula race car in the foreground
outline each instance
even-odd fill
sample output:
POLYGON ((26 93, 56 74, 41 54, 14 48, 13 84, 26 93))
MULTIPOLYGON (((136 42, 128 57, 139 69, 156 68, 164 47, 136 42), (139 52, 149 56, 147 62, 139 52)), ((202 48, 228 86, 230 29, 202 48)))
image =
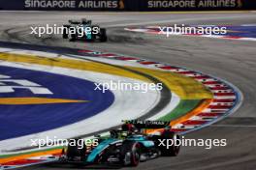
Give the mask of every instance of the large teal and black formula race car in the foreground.
POLYGON ((179 139, 170 131, 170 122, 125 121, 119 129, 112 129, 110 136, 97 136, 97 146, 68 146, 63 149, 61 162, 80 165, 101 164, 137 166, 141 161, 158 156, 177 156, 179 146, 161 145, 163 141, 179 139), (164 128, 159 134, 147 134, 147 129, 164 128))

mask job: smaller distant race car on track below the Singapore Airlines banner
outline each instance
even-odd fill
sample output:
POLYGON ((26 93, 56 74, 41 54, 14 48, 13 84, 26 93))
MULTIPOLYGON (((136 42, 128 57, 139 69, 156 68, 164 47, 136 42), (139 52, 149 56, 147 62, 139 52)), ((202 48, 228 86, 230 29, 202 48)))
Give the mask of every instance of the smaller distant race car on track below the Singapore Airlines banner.
POLYGON ((98 25, 92 25, 91 20, 82 18, 81 20, 69 20, 69 24, 63 25, 63 39, 82 41, 107 42, 107 33, 105 28, 98 25))

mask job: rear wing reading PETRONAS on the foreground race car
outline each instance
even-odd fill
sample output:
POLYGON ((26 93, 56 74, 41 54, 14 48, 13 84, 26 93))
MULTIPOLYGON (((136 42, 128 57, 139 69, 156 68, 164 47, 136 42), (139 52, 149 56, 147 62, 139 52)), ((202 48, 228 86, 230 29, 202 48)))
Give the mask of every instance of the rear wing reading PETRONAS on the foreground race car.
POLYGON ((167 128, 170 122, 166 121, 142 121, 142 120, 123 120, 124 124, 132 124, 136 128, 167 128))

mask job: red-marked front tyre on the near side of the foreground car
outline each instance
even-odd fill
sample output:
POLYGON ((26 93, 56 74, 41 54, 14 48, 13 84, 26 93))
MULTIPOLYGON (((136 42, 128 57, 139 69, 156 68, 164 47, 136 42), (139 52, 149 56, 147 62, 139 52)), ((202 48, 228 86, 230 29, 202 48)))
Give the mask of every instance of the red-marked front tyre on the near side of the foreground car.
POLYGON ((135 141, 124 141, 121 155, 125 166, 138 166, 141 157, 141 145, 135 141))

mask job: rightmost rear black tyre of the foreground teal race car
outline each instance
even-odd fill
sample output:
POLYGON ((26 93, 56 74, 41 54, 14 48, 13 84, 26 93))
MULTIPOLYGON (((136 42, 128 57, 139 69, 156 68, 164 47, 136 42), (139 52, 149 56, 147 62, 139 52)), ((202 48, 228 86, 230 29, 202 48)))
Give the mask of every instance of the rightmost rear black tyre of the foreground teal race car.
MULTIPOLYGON (((173 143, 176 143, 176 140, 180 139, 180 136, 176 134, 173 131, 164 131, 160 137, 163 140, 166 140, 166 144, 168 143, 167 140, 172 140, 173 143)), ((169 141, 169 144, 171 143, 171 140, 169 141)), ((178 144, 178 143, 177 143, 178 144)), ((159 149, 161 151, 162 156, 177 156, 180 150, 180 145, 166 145, 166 146, 159 146, 159 149)))

